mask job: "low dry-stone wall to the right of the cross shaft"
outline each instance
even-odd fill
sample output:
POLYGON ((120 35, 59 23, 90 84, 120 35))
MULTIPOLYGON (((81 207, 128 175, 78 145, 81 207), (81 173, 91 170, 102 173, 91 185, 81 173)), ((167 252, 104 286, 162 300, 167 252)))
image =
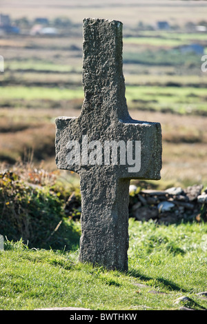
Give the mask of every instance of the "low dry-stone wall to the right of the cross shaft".
POLYGON ((129 213, 138 221, 154 219, 158 223, 204 221, 207 207, 207 188, 193 185, 186 189, 141 190, 130 185, 129 213))

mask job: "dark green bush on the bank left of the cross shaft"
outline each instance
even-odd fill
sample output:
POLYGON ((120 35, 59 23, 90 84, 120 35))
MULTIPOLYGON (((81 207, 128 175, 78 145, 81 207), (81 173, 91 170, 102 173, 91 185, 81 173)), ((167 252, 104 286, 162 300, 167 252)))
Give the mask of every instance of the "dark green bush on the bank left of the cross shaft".
POLYGON ((60 250, 77 247, 79 232, 66 219, 63 205, 49 186, 32 185, 14 172, 0 173, 0 233, 9 241, 60 250))

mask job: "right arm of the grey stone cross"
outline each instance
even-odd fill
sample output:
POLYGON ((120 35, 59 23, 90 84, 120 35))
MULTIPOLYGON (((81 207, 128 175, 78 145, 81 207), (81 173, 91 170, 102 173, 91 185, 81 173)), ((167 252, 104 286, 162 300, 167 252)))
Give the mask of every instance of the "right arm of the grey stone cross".
POLYGON ((126 139, 126 167, 120 178, 159 180, 161 178, 161 125, 146 121, 119 121, 119 133, 126 139), (133 164, 134 163, 134 164, 133 164))

